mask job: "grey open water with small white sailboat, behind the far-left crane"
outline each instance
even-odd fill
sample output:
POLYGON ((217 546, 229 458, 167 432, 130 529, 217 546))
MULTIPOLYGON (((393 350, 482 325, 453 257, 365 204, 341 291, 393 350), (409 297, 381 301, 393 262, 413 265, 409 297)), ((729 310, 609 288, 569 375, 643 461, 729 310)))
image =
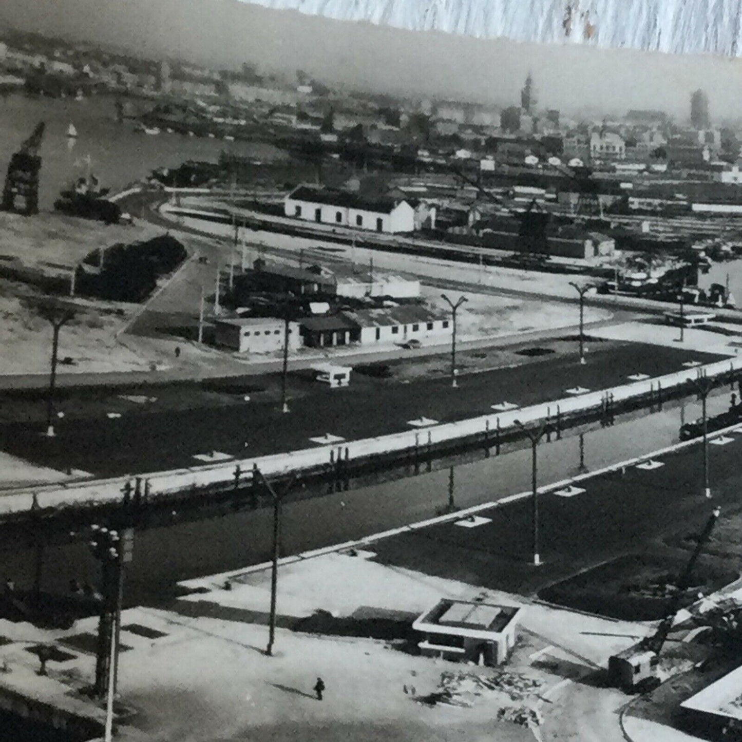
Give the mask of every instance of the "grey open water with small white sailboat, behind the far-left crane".
POLYGON ((155 168, 177 166, 185 160, 216 162, 220 151, 263 162, 286 157, 263 142, 229 142, 166 131, 156 136, 141 134, 134 131, 133 121, 117 123, 114 115, 114 99, 108 96, 75 101, 31 98, 16 93, 0 98, 0 177, 5 177, 10 156, 41 121, 46 123, 40 150, 39 209, 42 210, 52 209, 59 191, 88 171, 98 177, 103 187, 117 191, 155 168), (70 124, 77 130, 76 139, 67 136, 70 124))

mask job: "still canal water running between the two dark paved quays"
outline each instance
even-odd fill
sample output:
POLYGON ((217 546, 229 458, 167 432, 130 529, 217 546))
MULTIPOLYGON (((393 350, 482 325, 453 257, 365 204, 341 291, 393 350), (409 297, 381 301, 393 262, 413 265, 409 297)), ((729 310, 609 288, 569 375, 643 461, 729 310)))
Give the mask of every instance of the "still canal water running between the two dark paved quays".
MULTIPOLYGON (((709 415, 729 406, 729 391, 709 398, 709 415)), ((580 472, 582 463, 597 470, 677 442, 680 424, 700 416, 695 400, 675 403, 661 412, 618 420, 611 427, 570 431, 561 440, 539 445, 539 485, 580 472)), ((522 444, 520 444, 522 446, 522 444)), ((471 461, 472 455, 436 462, 432 470, 413 467, 380 472, 375 483, 345 491, 322 485, 289 497, 283 508, 283 555, 320 548, 439 515, 446 508, 467 508, 491 502, 530 487, 530 447, 503 449, 471 461), (396 477, 396 478, 390 478, 396 477)), ((153 603, 175 594, 175 583, 239 569, 269 559, 272 510, 228 506, 210 513, 173 511, 160 515, 158 525, 139 528, 134 562, 128 565, 126 603, 153 603)), ((65 592, 70 580, 99 581, 99 566, 88 553, 82 535, 60 534, 42 554, 42 590, 65 592)), ((0 577, 18 588, 33 584, 36 551, 24 539, 0 542, 0 577)))

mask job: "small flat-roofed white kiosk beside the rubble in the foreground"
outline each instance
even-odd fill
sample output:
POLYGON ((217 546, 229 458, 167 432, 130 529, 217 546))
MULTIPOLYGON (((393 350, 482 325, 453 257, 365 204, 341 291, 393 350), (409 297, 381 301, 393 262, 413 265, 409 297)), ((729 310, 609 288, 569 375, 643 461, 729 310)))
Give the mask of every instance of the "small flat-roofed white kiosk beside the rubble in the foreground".
POLYGON ((499 665, 515 646, 520 608, 491 603, 441 600, 413 628, 423 638, 421 654, 447 660, 499 665))

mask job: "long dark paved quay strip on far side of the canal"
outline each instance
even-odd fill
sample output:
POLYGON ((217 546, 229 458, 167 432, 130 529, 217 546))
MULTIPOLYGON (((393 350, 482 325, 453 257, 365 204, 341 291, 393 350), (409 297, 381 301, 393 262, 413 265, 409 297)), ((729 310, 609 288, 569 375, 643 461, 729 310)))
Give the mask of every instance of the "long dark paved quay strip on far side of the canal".
POLYGON ((45 430, 40 397, 35 418, 29 414, 0 426, 0 447, 57 470, 139 474, 209 463, 194 456, 211 452, 246 458, 312 447, 310 439, 326 433, 346 440, 398 433, 410 430, 409 421, 421 416, 456 421, 491 414, 491 406, 503 401, 525 407, 565 398, 573 387, 600 390, 628 383, 628 375, 654 377, 683 370, 689 361, 720 359, 612 342, 591 344, 585 365, 577 352, 545 358, 528 362, 524 357, 517 368, 464 373, 458 389, 451 388, 447 375, 404 384, 353 373, 350 387, 330 390, 292 374, 289 414, 280 412, 277 375, 206 391, 183 385, 113 395, 99 390, 88 398, 73 394, 57 406, 65 416, 55 421, 55 438, 40 436, 45 430))

